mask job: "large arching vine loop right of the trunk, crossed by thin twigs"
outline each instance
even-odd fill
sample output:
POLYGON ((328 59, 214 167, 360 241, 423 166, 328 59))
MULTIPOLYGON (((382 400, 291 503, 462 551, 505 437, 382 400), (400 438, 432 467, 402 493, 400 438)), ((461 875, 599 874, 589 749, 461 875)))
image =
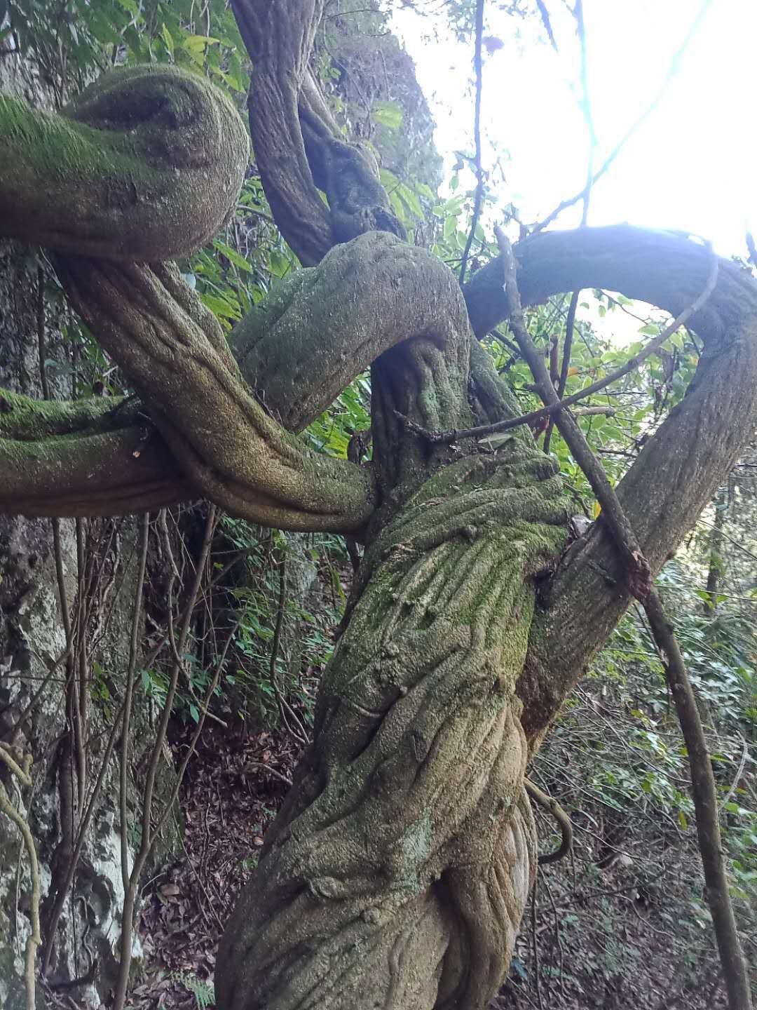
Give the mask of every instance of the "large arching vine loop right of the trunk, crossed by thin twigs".
MULTIPOLYGON (((579 232, 538 235, 516 246, 516 254, 519 285, 531 303, 563 285, 602 287, 674 314, 701 290, 710 262, 704 246, 677 234, 629 226, 585 229, 582 239, 579 232), (564 256, 568 245, 570 257, 564 256)), ((504 298, 495 267, 481 274, 465 292, 476 325, 486 325, 504 298)), ((751 275, 721 261, 716 289, 690 328, 705 341, 694 380, 617 489, 653 575, 692 527, 757 425, 757 286, 751 275)), ((628 604, 623 565, 599 521, 561 560, 534 621, 519 685, 532 746, 628 604)))

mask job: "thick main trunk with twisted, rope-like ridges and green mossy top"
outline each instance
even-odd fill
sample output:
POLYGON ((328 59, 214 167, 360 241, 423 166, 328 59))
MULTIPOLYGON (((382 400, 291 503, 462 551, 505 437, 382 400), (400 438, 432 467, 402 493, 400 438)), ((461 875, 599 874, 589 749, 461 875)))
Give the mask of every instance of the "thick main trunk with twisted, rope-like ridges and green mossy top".
POLYGON ((564 544, 553 461, 439 471, 379 534, 315 742, 219 952, 224 1010, 482 1007, 535 872, 515 684, 564 544))

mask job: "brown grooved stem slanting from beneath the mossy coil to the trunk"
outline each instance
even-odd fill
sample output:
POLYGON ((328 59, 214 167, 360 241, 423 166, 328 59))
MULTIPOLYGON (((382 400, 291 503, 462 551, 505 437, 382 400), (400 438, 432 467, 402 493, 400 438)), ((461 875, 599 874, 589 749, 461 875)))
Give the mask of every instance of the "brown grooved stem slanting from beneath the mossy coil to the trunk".
POLYGON ((243 382, 213 314, 174 267, 60 259, 62 283, 124 369, 187 478, 229 512, 291 529, 355 529, 370 475, 312 452, 243 382))

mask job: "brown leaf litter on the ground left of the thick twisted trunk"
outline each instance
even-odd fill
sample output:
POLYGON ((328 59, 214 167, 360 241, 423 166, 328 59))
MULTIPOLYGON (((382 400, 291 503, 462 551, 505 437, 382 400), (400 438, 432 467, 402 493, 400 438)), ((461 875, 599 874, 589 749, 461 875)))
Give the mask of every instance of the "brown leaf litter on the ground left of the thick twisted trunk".
POLYGON ((183 857, 147 888, 146 968, 131 1010, 211 1005, 218 938, 287 792, 296 747, 286 732, 239 736, 212 724, 203 731, 182 787, 183 857))

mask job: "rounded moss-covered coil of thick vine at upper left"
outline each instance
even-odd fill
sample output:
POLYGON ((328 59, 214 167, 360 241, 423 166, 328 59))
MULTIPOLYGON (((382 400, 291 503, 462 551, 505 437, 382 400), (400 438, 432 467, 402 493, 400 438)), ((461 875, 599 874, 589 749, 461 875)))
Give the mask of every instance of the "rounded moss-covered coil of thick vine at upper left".
POLYGON ((228 99, 167 67, 115 70, 56 115, 0 95, 0 235, 154 262, 234 206, 249 157, 228 99))

